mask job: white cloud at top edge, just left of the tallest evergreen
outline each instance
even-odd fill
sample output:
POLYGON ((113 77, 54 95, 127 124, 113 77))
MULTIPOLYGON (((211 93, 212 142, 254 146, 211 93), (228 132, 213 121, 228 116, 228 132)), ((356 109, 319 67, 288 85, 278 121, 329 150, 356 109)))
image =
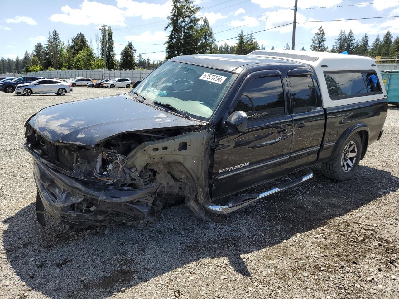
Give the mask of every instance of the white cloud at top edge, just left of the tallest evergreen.
POLYGON ((119 8, 126 8, 124 16, 141 17, 143 20, 151 18, 166 18, 172 10, 172 0, 168 0, 164 4, 154 4, 146 2, 136 2, 132 0, 117 0, 119 8))

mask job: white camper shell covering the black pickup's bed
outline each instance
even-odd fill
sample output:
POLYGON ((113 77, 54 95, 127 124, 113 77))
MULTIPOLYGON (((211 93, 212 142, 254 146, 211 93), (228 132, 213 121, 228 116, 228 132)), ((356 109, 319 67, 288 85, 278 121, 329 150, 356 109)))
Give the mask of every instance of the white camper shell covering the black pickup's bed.
MULTIPOLYGON (((387 97, 379 69, 375 65, 375 61, 369 57, 329 52, 279 50, 257 50, 248 55, 278 57, 309 65, 319 81, 323 108, 355 104, 387 97), (356 92, 354 92, 352 95, 332 96, 330 93, 331 89, 329 91, 328 88, 327 78, 330 79, 333 74, 348 73, 352 73, 353 78, 360 77, 361 81, 363 80, 361 78, 362 74, 366 77, 364 74, 373 73, 378 78, 378 82, 373 83, 377 91, 367 90, 368 86, 365 86, 362 93, 356 94, 356 92), (356 75, 354 73, 356 73, 356 75)), ((340 77, 339 75, 337 76, 340 77)), ((341 77, 342 76, 343 75, 341 75, 341 77)))

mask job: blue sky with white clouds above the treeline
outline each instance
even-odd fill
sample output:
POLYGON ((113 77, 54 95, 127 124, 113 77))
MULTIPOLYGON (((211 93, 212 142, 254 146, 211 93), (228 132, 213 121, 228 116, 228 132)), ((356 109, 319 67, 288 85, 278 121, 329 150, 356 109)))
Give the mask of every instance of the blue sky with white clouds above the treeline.
MULTIPOLYGON (((24 52, 33 50, 37 42, 45 43, 49 31, 58 31, 61 39, 67 43, 68 38, 83 32, 90 41, 95 34, 100 33, 99 26, 111 26, 114 33, 115 52, 117 58, 126 45, 132 41, 137 53, 144 58, 163 59, 164 41, 168 35, 164 28, 166 16, 170 13, 172 1, 146 0, 41 0, 6 1, 2 3, 0 32, 2 43, 0 56, 20 58, 24 52), (40 4, 37 4, 40 3, 40 4), (155 44, 155 45, 154 45, 155 44), (158 52, 158 53, 152 53, 158 52)), ((202 7, 199 16, 206 16, 211 24, 218 45, 234 44, 241 31, 250 33, 292 22, 294 0, 196 0, 202 7), (239 28, 235 28, 242 26, 239 28), (235 29, 233 29, 235 28, 235 29), (219 31, 223 31, 217 33, 219 31), (224 40, 229 39, 229 40, 224 40)), ((296 49, 304 46, 310 48, 311 39, 320 26, 326 31, 327 45, 331 47, 336 35, 341 29, 347 32, 352 29, 356 38, 361 38, 365 32, 369 35, 370 45, 379 33, 382 37, 387 30, 393 36, 399 35, 399 18, 381 18, 370 20, 350 20, 339 22, 310 22, 318 20, 337 20, 350 18, 370 18, 380 16, 399 16, 399 0, 298 0, 296 29, 296 49), (345 6, 322 8, 324 6, 345 6)), ((259 45, 266 49, 274 45, 282 49, 286 43, 291 43, 292 25, 255 34, 259 45)))

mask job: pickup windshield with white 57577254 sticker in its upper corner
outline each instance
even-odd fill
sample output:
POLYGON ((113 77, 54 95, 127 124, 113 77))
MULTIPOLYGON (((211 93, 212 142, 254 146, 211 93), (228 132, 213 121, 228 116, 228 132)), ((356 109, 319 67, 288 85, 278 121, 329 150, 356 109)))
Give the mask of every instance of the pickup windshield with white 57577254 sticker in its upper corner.
POLYGON ((169 104, 192 118, 209 120, 236 75, 167 61, 133 91, 146 102, 169 104))

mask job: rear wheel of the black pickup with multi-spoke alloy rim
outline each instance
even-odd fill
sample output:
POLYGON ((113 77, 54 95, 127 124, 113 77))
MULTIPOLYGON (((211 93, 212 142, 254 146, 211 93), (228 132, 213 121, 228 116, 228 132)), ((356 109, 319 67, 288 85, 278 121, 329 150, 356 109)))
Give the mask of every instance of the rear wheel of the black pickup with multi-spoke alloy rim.
POLYGON ((361 145, 358 133, 349 136, 339 149, 336 159, 322 163, 323 174, 336 181, 352 179, 359 166, 361 145))

